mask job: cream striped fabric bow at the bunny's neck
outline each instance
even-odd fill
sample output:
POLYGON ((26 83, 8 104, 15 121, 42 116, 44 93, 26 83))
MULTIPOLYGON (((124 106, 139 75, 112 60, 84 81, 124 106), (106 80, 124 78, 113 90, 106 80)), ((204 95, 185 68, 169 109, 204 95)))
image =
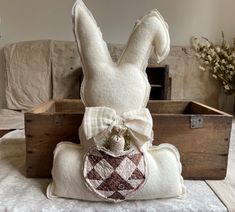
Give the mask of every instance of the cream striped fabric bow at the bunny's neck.
POLYGON ((108 107, 86 107, 82 125, 87 140, 102 132, 111 131, 114 126, 122 125, 135 138, 137 146, 152 142, 153 122, 147 108, 117 115, 115 110, 108 107))

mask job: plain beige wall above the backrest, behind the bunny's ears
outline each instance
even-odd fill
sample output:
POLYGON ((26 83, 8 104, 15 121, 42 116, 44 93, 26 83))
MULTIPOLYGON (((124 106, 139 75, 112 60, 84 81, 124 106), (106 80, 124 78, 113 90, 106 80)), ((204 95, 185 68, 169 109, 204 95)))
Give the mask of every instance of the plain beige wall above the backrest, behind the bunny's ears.
MULTIPOLYGON (((216 42, 219 42, 221 30, 224 30, 228 39, 235 35, 234 0, 84 2, 97 19, 104 38, 112 43, 125 43, 135 20, 151 8, 158 8, 165 17, 172 44, 176 46, 188 46, 192 35, 202 35, 216 42)), ((73 40, 70 15, 73 3, 74 0, 0 0, 0 48, 22 40, 73 40)), ((4 80, 0 70, 0 107, 2 105, 4 80)))

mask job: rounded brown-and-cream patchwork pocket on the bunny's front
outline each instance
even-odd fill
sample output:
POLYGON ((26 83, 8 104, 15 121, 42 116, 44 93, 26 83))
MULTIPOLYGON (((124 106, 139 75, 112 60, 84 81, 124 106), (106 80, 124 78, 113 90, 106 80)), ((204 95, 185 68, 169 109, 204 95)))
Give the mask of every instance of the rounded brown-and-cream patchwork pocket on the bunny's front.
POLYGON ((110 201, 123 201, 144 184, 144 155, 135 149, 114 157, 104 150, 93 149, 86 154, 84 178, 87 186, 110 201))

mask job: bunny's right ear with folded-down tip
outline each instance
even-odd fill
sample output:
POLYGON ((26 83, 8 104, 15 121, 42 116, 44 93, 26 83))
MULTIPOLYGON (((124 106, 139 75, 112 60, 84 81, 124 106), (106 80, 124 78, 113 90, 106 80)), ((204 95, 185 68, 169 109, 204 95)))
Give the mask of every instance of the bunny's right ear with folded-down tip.
POLYGON ((130 63, 145 70, 153 48, 161 59, 168 55, 170 48, 168 25, 156 9, 136 22, 119 65, 130 63))

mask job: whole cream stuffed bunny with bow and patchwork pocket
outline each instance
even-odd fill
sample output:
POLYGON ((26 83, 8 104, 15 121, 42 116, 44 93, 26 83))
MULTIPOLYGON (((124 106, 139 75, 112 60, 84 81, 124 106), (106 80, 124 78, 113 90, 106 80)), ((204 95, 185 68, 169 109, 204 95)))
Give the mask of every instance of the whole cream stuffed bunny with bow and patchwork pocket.
POLYGON ((118 63, 111 59, 95 19, 77 0, 74 33, 86 106, 80 145, 60 143, 54 152, 47 196, 91 201, 180 197, 185 193, 177 149, 152 146, 150 85, 145 69, 151 51, 169 53, 168 27, 157 10, 137 21, 118 63))

